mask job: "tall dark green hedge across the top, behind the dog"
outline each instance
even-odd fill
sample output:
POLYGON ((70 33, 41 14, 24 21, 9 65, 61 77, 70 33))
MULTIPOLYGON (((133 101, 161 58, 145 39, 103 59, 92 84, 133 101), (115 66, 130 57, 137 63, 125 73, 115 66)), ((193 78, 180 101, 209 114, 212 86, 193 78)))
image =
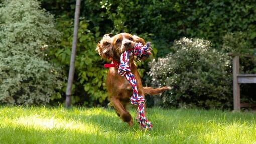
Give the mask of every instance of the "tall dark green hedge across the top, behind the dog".
MULTIPOLYGON (((75 0, 43 3, 56 15, 74 17, 75 0)), ((210 40, 214 48, 221 49, 221 37, 242 31, 255 47, 254 7, 253 0, 82 0, 81 16, 89 21, 89 29, 100 27, 101 36, 119 32, 147 34, 158 44, 161 57, 172 50, 166 45, 184 36, 210 40)))

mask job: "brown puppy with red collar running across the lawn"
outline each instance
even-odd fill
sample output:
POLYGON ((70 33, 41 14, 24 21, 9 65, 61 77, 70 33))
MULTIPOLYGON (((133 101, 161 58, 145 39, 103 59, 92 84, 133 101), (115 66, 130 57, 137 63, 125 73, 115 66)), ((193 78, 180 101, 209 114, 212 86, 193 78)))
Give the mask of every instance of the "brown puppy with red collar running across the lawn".
MULTIPOLYGON (((120 33, 113 37, 110 37, 110 34, 106 34, 98 43, 96 50, 102 58, 110 58, 114 61, 112 63, 120 63, 120 55, 125 50, 133 48, 135 43, 139 42, 142 43, 142 45, 145 45, 145 41, 142 38, 128 33, 120 33)), ((156 95, 169 89, 169 87, 156 89, 153 89, 152 87, 143 87, 140 75, 134 63, 134 56, 130 57, 129 63, 131 72, 134 74, 137 81, 138 94, 142 95, 144 99, 145 95, 156 95)), ((132 116, 126 110, 127 105, 130 104, 130 97, 133 95, 132 87, 124 76, 118 74, 118 66, 109 68, 106 85, 108 98, 117 115, 124 122, 127 122, 129 126, 133 125, 132 116)), ((138 120, 137 116, 136 120, 138 120)))

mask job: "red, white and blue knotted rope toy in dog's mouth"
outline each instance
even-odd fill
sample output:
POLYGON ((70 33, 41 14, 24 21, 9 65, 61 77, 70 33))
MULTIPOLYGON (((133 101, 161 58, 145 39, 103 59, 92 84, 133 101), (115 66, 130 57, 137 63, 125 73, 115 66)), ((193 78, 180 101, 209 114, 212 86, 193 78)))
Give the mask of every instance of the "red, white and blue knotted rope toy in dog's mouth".
POLYGON ((125 76, 133 89, 133 95, 131 96, 130 100, 132 104, 138 105, 139 123, 143 128, 148 129, 152 128, 152 124, 144 115, 145 99, 143 98, 143 96, 138 95, 137 82, 129 67, 129 56, 132 56, 132 54, 134 54, 137 57, 140 57, 141 55, 148 57, 151 54, 152 50, 150 46, 150 42, 148 42, 144 46, 141 43, 136 43, 133 49, 126 50, 124 53, 121 54, 120 65, 118 68, 118 74, 120 74, 121 76, 125 76))

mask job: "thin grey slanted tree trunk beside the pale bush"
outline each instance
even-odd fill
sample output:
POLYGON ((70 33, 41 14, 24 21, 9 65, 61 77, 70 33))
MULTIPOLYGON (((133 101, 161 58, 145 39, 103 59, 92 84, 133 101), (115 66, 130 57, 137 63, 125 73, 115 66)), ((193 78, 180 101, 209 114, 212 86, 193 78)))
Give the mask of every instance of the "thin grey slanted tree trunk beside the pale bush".
POLYGON ((80 3, 81 3, 80 0, 76 0, 72 53, 70 58, 68 84, 66 89, 66 105, 65 105, 66 108, 71 106, 71 100, 72 100, 71 94, 72 94, 72 83, 73 83, 74 73, 75 73, 75 57, 76 57, 76 45, 77 45, 77 33, 78 33, 78 27, 79 27, 80 3))

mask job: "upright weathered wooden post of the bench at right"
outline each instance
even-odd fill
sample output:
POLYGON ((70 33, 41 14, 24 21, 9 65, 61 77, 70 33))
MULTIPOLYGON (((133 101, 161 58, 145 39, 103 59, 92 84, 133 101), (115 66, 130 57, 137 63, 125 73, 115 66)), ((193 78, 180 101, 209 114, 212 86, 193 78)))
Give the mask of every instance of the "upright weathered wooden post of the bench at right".
POLYGON ((234 111, 241 110, 240 103, 240 85, 237 75, 239 74, 239 56, 233 57, 233 96, 234 96, 234 111))

